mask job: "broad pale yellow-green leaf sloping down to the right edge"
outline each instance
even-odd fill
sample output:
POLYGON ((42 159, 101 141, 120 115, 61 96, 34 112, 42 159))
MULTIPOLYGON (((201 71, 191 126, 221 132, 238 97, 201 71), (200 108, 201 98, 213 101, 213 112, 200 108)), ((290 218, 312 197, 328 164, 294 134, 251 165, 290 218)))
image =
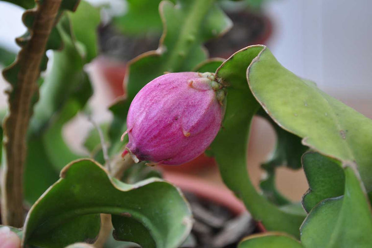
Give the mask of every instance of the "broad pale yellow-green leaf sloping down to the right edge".
POLYGON ((356 163, 372 190, 372 120, 282 67, 264 49, 248 71, 249 86, 264 110, 302 144, 342 164, 356 163))

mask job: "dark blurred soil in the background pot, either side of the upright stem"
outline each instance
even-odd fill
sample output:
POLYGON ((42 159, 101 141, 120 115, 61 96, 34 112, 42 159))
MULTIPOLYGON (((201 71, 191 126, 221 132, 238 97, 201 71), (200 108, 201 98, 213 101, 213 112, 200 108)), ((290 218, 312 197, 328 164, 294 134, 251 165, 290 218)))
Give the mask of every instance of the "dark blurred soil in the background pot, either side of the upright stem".
MULTIPOLYGON (((222 37, 205 44, 209 57, 227 58, 233 52, 248 45, 264 43, 270 34, 268 19, 250 11, 227 12, 233 27, 222 37)), ((119 33, 114 26, 102 25, 98 28, 100 52, 121 61, 129 61, 150 50, 156 50, 161 34, 143 37, 128 37, 119 33)))

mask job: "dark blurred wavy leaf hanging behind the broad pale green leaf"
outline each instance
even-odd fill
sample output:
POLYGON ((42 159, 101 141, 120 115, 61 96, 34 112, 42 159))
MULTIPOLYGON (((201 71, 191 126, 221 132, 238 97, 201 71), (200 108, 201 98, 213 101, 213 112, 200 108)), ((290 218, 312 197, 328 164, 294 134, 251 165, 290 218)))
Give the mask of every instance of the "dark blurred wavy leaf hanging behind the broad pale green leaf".
POLYGON ((258 114, 264 117, 274 128, 277 134, 277 143, 275 150, 269 160, 261 164, 261 168, 266 170, 266 178, 261 180, 260 187, 266 197, 277 205, 290 203, 280 194, 275 184, 275 172, 279 166, 286 166, 291 169, 301 168, 301 156, 307 150, 306 146, 301 144, 301 138, 280 128, 262 109, 258 114))

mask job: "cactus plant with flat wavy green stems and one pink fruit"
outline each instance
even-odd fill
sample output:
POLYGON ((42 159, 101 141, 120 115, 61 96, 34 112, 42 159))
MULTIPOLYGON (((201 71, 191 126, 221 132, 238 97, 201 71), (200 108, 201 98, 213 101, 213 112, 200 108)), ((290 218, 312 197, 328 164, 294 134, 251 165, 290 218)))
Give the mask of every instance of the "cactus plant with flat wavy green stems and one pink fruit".
MULTIPOLYGON (((129 10, 133 18, 140 7, 129 10)), ((112 234, 146 248, 180 247, 193 225, 189 204, 172 183, 149 178, 145 163, 176 166, 210 148, 226 186, 267 230, 239 248, 369 247, 371 119, 281 66, 265 45, 209 59, 203 44, 232 24, 213 0, 165 0, 159 10, 159 47, 128 63, 126 98, 110 108, 112 121, 99 126, 92 120, 91 158, 71 150, 62 129, 77 113, 90 114, 84 65, 98 54, 99 11, 74 0, 37 2, 25 11, 28 32, 17 39, 16 61, 3 70, 11 89, 0 132, 6 225, 0 241, 87 247, 112 234), (52 65, 41 74, 48 49, 52 65), (278 137, 263 164, 263 194, 247 171, 256 114, 278 137), (301 203, 275 188, 276 168, 284 165, 304 169, 309 190, 301 203), (130 168, 147 176, 122 181, 130 168)))

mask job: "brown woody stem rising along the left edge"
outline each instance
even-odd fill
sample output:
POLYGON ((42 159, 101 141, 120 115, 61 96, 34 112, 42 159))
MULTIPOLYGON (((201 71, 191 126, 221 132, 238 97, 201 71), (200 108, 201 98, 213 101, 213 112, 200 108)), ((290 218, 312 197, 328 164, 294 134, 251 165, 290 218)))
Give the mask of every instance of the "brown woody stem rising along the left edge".
MULTIPOLYGON (((3 224, 23 226, 23 165, 26 158, 26 134, 31 116, 31 100, 38 90, 46 43, 62 0, 38 3, 31 38, 18 55, 17 82, 9 92, 9 115, 4 122, 5 166, 1 186, 3 224)), ((5 71, 4 71, 5 72, 5 71)))

